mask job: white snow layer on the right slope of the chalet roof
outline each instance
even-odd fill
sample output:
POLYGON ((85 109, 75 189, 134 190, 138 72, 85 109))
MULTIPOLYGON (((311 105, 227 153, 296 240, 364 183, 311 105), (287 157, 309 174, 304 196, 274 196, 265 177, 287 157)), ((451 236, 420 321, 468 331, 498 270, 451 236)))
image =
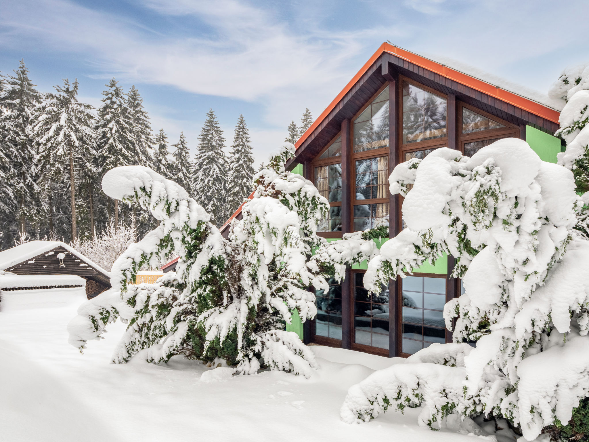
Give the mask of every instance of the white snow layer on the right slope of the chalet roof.
POLYGON ((506 91, 521 95, 524 98, 528 98, 528 100, 535 101, 559 112, 565 105, 564 100, 550 98, 547 94, 542 94, 537 90, 531 89, 526 86, 522 86, 521 84, 513 83, 509 80, 505 80, 505 78, 499 77, 495 74, 490 74, 489 72, 486 72, 479 68, 475 68, 462 61, 454 60, 454 58, 444 57, 443 55, 425 54, 423 52, 418 55, 421 55, 425 58, 429 58, 429 60, 438 62, 439 64, 448 66, 449 68, 454 69, 455 71, 459 71, 463 74, 470 75, 471 77, 478 78, 478 80, 482 80, 485 83, 489 83, 494 86, 499 86, 500 88, 506 91))

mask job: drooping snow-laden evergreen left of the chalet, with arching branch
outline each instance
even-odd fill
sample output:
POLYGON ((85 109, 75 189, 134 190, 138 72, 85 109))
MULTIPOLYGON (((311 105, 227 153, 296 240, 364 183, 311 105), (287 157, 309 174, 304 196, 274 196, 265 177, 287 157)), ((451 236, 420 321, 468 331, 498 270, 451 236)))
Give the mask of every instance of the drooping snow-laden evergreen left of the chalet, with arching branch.
POLYGON ((108 171, 105 193, 148 207, 161 223, 114 263, 112 289, 78 309, 70 342, 83 349, 120 317, 129 326, 115 362, 140 352, 150 362, 184 354, 225 361, 241 374, 269 367, 310 376, 313 354, 283 322, 293 309, 303 321, 313 318, 315 295, 305 288, 327 288, 325 270, 310 256, 325 242, 315 231, 328 203, 311 182, 284 170, 293 155, 294 146, 285 144, 256 175, 254 199, 229 240, 178 184, 140 166, 108 171), (127 285, 141 266, 169 253, 180 256, 175 277, 127 285))

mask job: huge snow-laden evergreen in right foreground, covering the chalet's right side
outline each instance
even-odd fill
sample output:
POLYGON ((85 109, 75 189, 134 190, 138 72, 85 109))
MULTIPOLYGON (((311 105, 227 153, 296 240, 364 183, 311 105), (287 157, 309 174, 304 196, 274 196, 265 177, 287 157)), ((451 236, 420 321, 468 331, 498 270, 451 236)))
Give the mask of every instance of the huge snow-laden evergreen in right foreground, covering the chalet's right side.
POLYGON ((568 422, 589 394, 589 242, 574 230, 581 201, 571 171, 507 138, 472 158, 437 149, 399 164, 389 183, 405 196, 407 228, 370 260, 366 288, 446 252, 465 293, 444 309, 449 329, 457 317, 455 344, 432 344, 411 367, 393 365, 350 388, 343 420, 423 405, 422 425, 492 414, 527 440, 568 422))

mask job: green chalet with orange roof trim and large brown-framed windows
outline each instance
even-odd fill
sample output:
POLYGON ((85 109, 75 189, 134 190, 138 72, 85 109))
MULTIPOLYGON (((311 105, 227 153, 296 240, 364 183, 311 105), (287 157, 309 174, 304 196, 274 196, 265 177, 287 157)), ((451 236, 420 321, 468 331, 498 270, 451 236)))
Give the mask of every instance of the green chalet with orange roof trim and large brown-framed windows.
MULTIPOLYGON (((546 100, 544 100, 546 101, 546 100)), ((329 200, 329 217, 317 232, 327 240, 389 223, 402 230, 402 197, 389 193, 396 164, 439 147, 472 156, 499 138, 528 141, 544 161, 556 162, 560 111, 438 62, 382 44, 296 143, 287 169, 311 180, 329 200)), ((240 217, 241 207, 221 227, 240 217)), ((305 343, 406 357, 434 342, 451 342, 442 310, 461 283, 448 278, 454 258, 426 263, 413 276, 391 281, 369 298, 366 263, 341 284, 316 292, 317 316, 287 329, 305 343)))

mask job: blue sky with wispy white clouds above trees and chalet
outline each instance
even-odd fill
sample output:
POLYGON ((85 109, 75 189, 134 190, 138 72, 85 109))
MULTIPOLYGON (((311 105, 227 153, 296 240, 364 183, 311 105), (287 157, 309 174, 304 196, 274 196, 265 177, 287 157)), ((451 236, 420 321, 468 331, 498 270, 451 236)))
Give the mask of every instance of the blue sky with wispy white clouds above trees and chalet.
POLYGON ((589 61, 588 16, 584 0, 0 0, 0 71, 24 58, 39 90, 78 78, 95 106, 111 77, 134 84, 154 131, 192 151, 209 108, 228 145, 243 113, 260 161, 383 41, 545 93, 589 61))

